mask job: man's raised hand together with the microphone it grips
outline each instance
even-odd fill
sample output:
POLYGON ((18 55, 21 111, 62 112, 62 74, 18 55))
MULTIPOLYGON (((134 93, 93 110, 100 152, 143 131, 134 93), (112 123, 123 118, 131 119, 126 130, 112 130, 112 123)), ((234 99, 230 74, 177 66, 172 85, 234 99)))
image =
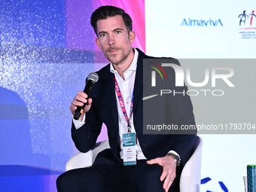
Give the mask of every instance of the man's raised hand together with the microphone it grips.
POLYGON ((87 77, 84 92, 79 91, 78 95, 73 99, 72 104, 70 105, 70 111, 74 114, 75 120, 81 120, 84 117, 84 113, 90 110, 90 105, 93 100, 88 98, 90 97, 90 93, 98 79, 99 76, 96 73, 90 73, 87 77))

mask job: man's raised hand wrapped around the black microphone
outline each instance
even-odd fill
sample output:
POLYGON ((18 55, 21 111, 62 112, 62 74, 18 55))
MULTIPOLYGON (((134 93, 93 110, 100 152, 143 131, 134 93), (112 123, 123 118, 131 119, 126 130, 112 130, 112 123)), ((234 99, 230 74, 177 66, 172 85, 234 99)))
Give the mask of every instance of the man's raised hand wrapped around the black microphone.
MULTIPOLYGON (((78 94, 74 97, 69 109, 72 112, 72 114, 75 114, 75 110, 78 108, 78 106, 83 106, 84 103, 87 102, 87 94, 84 93, 83 91, 79 90, 78 94)), ((87 105, 84 107, 84 113, 87 113, 87 111, 90 110, 90 106, 92 105, 93 99, 89 98, 87 105)), ((81 114, 79 117, 79 120, 83 120, 84 113, 81 114)))

